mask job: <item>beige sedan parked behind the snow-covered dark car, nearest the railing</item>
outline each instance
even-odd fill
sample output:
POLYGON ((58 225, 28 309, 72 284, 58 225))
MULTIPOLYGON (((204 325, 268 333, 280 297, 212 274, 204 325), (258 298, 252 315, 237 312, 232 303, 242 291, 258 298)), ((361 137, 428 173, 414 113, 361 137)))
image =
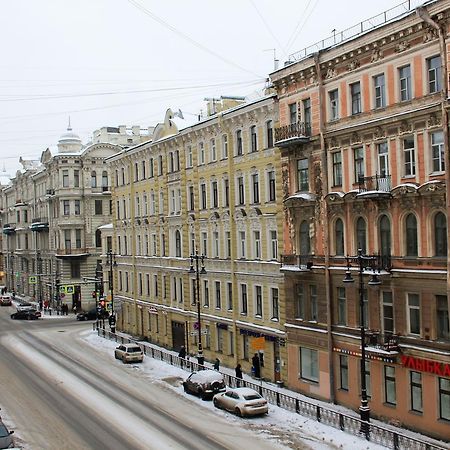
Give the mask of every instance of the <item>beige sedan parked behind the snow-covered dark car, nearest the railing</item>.
POLYGON ((267 414, 269 406, 264 397, 250 388, 227 389, 213 398, 216 408, 234 412, 240 417, 267 414))

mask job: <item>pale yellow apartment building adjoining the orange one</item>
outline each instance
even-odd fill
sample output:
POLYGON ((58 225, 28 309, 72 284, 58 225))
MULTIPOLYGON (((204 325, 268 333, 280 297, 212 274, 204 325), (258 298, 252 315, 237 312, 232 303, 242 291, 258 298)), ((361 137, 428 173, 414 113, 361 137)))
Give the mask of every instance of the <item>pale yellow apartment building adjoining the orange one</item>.
MULTIPOLYGON (((151 143, 108 160, 118 327, 261 376, 286 376, 281 156, 276 100, 222 98, 206 119, 179 129, 169 110, 151 143), (224 109, 228 108, 228 109, 224 109), (206 273, 189 273, 190 255, 206 273)), ((112 236, 111 236, 112 235, 112 236)), ((105 241, 106 242, 106 241, 105 241)), ((193 262, 195 267, 195 261, 193 262)))

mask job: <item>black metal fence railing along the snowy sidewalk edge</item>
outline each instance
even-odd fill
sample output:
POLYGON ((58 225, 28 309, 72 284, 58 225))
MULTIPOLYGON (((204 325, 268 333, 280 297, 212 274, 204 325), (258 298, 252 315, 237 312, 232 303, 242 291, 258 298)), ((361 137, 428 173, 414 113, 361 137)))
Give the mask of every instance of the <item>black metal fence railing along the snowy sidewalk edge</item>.
MULTIPOLYGON (((95 323, 93 324, 93 329, 95 330, 95 323)), ((111 333, 104 328, 98 328, 97 333, 99 336, 114 340, 121 344, 139 344, 139 341, 135 339, 111 333)), ((143 347, 144 353, 147 356, 166 362, 172 366, 176 366, 184 370, 189 370, 191 372, 195 372, 199 369, 201 370, 205 368, 204 366, 200 366, 195 361, 179 358, 169 351, 153 347, 150 344, 141 346, 143 347)), ((258 391, 269 403, 273 405, 277 405, 280 408, 286 409, 288 411, 296 412, 297 414, 309 417, 313 420, 317 420, 318 422, 332 426, 333 428, 340 429, 341 431, 345 431, 347 433, 358 435, 361 434, 361 430, 363 430, 363 434, 365 434, 365 437, 368 441, 392 448, 394 450, 450 449, 450 446, 447 446, 444 443, 442 443, 441 445, 439 443, 416 439, 412 436, 401 433, 398 430, 391 430, 380 425, 363 422, 357 417, 349 416, 345 413, 335 411, 331 408, 316 405, 312 402, 302 400, 293 395, 285 394, 275 389, 271 389, 270 387, 253 383, 252 381, 242 380, 240 378, 234 377, 233 375, 229 375, 223 372, 222 375, 224 376, 226 384, 230 387, 240 386, 252 388, 255 391, 258 391)))

